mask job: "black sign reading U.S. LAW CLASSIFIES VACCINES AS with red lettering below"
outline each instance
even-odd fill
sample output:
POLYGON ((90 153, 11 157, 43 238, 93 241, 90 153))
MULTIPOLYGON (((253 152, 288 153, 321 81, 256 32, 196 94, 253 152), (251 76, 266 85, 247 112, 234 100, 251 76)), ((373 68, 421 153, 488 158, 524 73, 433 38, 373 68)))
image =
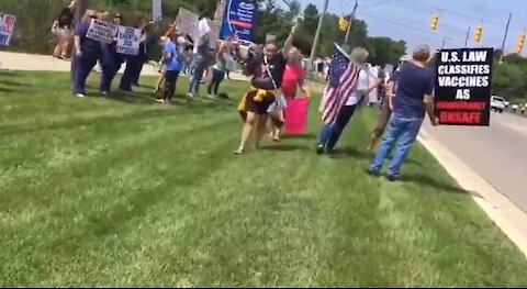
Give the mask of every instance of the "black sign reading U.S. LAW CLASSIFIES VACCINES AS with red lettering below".
POLYGON ((435 111, 440 124, 490 125, 493 56, 493 48, 439 52, 435 111))

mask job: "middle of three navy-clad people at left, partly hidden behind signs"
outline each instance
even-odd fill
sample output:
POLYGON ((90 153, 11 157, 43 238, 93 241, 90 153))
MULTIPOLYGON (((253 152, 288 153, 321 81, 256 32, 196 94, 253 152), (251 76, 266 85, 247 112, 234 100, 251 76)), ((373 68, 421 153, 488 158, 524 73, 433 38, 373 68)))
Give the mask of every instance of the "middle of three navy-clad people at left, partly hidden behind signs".
MULTIPOLYGON (((103 21, 109 21, 110 15, 102 14, 101 15, 103 21)), ((121 25, 122 18, 120 13, 116 13, 113 18, 113 24, 121 25)), ((110 92, 110 88, 112 87, 112 81, 115 75, 117 74, 119 69, 124 63, 124 56, 117 53, 117 41, 116 38, 110 43, 102 44, 102 59, 100 62, 102 68, 102 76, 101 76, 101 85, 100 91, 102 95, 108 95, 110 92)))

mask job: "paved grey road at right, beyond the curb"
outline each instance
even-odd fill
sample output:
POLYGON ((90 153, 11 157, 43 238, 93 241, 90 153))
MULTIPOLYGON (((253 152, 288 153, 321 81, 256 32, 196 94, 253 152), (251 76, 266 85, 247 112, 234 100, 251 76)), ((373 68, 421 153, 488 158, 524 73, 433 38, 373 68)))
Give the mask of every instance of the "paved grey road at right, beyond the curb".
POLYGON ((426 131, 527 212, 527 118, 492 113, 490 127, 440 126, 426 131))

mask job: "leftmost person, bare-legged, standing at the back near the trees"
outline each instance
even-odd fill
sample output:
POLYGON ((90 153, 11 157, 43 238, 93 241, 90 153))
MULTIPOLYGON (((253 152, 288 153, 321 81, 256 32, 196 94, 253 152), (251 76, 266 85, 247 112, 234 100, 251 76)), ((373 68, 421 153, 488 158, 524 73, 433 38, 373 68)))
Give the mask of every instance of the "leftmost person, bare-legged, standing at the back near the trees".
POLYGON ((69 55, 69 45, 71 43, 74 29, 74 11, 77 1, 74 0, 68 7, 63 8, 57 20, 53 23, 52 32, 57 36, 57 45, 53 56, 66 59, 69 55))

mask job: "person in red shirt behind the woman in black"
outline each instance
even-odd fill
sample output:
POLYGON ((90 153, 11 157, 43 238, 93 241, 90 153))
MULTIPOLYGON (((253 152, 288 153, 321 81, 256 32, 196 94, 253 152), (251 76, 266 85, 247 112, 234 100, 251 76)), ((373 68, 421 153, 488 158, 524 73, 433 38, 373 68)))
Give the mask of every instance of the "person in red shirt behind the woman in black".
MULTIPOLYGON (((307 97, 311 97, 305 87, 305 74, 302 66, 302 55, 298 48, 292 47, 289 52, 281 87, 282 95, 287 101, 296 97, 299 87, 303 93, 305 93, 307 97)), ((281 115, 279 116, 284 119, 283 110, 278 110, 277 113, 280 113, 281 115)), ((280 142, 281 127, 274 125, 273 121, 269 121, 268 124, 270 129, 270 137, 274 142, 280 142)))

